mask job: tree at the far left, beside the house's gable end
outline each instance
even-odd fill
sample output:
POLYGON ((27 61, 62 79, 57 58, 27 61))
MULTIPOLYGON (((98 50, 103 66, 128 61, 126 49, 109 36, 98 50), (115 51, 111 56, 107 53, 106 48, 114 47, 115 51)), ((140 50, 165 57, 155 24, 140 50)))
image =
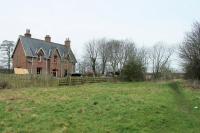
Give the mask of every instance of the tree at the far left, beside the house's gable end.
POLYGON ((5 57, 3 60, 1 60, 1 62, 5 62, 7 65, 7 68, 10 69, 11 68, 11 56, 12 56, 12 52, 14 50, 14 42, 13 41, 3 41, 0 45, 0 50, 2 51, 2 54, 5 53, 5 57))

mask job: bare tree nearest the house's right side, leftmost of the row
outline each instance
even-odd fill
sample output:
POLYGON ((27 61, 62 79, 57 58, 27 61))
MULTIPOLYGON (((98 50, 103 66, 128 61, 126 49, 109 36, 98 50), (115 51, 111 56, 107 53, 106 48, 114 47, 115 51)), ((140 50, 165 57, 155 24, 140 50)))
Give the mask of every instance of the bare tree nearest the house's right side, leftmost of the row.
POLYGON ((94 76, 96 75, 96 64, 98 57, 97 41, 92 40, 86 44, 86 58, 89 59, 94 76))

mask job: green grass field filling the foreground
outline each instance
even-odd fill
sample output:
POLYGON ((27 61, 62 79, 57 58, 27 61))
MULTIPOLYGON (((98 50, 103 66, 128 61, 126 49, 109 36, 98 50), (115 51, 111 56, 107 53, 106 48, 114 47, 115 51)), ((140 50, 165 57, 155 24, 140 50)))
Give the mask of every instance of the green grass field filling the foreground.
POLYGON ((0 90, 0 132, 196 133, 200 91, 180 82, 0 90))

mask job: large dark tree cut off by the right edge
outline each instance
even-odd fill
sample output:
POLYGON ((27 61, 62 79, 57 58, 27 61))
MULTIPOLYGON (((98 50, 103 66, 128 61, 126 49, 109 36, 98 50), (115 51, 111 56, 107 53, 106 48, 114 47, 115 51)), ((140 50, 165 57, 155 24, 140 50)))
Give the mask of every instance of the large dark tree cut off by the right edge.
POLYGON ((180 57, 183 59, 186 78, 200 79, 200 23, 195 22, 191 32, 187 33, 180 46, 180 57))

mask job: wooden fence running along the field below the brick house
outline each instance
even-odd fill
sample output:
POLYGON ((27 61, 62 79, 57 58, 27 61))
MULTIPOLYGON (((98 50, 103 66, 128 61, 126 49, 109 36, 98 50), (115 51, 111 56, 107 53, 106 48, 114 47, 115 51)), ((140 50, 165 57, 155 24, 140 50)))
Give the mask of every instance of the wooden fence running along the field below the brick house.
POLYGON ((99 83, 114 81, 113 78, 108 77, 67 77, 55 78, 51 76, 38 75, 15 75, 15 74, 1 74, 0 81, 8 82, 13 88, 26 87, 50 87, 58 85, 79 85, 84 83, 99 83))

